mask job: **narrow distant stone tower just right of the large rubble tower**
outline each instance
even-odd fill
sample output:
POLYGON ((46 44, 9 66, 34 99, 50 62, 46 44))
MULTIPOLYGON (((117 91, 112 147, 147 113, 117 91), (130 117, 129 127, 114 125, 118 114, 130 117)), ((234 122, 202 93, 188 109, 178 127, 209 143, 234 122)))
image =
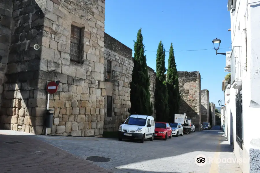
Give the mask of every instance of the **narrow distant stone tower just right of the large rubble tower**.
POLYGON ((201 123, 209 122, 209 90, 201 90, 201 123))

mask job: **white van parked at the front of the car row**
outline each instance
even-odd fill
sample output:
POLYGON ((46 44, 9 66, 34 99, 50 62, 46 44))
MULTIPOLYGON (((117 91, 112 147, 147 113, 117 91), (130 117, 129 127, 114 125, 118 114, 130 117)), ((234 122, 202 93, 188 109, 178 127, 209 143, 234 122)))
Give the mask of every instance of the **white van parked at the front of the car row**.
POLYGON ((154 138, 154 118, 148 115, 130 115, 118 128, 118 140, 123 138, 138 139, 144 143, 144 139, 154 138))

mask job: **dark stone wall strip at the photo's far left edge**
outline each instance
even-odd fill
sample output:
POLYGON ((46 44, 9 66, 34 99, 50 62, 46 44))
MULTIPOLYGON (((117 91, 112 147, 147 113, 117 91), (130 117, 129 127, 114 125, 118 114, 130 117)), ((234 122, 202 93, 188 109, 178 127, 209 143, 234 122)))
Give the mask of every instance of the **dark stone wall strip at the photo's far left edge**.
POLYGON ((12 36, 12 15, 12 1, 0 1, 0 108, 2 103, 3 83, 6 81, 5 72, 7 71, 8 53, 12 36))

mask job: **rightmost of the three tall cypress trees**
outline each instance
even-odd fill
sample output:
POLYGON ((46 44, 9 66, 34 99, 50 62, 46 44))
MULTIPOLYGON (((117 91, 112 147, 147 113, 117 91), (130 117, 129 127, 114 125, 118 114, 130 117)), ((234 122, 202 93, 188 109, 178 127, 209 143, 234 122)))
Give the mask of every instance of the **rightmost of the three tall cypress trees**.
POLYGON ((168 104, 169 104, 169 116, 170 120, 174 122, 174 114, 179 113, 180 108, 180 94, 179 94, 179 78, 177 67, 175 63, 175 57, 173 52, 173 46, 171 43, 168 59, 167 70, 167 89, 168 89, 168 104))

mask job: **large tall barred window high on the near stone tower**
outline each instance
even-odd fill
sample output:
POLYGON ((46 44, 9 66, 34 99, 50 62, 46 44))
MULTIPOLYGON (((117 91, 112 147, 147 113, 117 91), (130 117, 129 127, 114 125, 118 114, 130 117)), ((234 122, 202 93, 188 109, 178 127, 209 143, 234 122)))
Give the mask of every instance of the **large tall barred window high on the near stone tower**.
POLYGON ((71 25, 70 33, 70 60, 80 62, 83 45, 81 43, 81 28, 71 25))

